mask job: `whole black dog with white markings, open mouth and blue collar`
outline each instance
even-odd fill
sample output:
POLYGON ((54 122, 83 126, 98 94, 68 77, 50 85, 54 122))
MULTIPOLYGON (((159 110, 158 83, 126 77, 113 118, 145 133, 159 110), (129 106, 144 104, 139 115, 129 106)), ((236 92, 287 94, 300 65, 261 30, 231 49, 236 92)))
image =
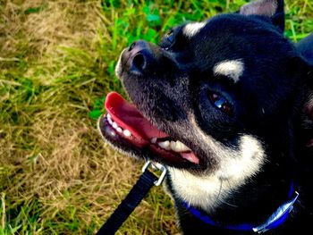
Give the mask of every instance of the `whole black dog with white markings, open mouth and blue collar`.
POLYGON ((184 234, 311 229, 313 36, 293 46, 283 24, 283 1, 258 0, 120 57, 134 105, 109 94, 99 129, 166 165, 184 234))

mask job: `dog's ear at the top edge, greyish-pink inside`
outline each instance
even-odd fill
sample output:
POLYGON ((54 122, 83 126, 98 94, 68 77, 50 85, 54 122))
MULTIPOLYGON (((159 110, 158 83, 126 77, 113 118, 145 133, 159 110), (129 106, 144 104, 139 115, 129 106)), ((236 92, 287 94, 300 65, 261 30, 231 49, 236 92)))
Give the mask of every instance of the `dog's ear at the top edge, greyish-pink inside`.
POLYGON ((283 32, 284 12, 283 0, 258 0, 241 6, 240 13, 243 15, 262 15, 269 17, 273 24, 283 32))

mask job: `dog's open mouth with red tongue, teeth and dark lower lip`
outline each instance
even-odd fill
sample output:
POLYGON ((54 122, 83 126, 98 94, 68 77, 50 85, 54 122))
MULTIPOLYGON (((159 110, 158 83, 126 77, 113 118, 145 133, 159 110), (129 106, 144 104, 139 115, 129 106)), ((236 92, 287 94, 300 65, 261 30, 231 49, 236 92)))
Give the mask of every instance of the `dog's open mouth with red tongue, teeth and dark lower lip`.
POLYGON ((107 114, 100 118, 99 129, 115 147, 142 152, 145 157, 169 165, 199 164, 198 156, 189 147, 158 130, 118 93, 107 95, 105 107, 107 114))

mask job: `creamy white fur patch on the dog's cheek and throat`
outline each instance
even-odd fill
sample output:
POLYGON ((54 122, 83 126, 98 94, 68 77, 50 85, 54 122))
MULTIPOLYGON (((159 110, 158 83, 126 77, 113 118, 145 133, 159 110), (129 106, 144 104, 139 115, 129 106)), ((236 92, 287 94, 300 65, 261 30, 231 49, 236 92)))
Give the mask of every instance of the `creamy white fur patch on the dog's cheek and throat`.
POLYGON ((266 155, 262 143, 250 135, 242 135, 240 147, 233 149, 207 136, 196 124, 195 129, 216 154, 219 168, 213 173, 196 175, 170 167, 173 192, 190 206, 213 213, 221 204, 230 204, 227 201, 232 193, 258 174, 266 163, 266 155))

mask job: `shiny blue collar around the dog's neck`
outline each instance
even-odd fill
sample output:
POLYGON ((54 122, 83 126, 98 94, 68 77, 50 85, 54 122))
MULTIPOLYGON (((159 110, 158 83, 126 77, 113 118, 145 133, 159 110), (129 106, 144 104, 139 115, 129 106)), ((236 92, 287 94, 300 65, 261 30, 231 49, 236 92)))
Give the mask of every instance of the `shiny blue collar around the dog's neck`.
POLYGON ((207 222, 210 225, 218 226, 226 230, 234 230, 234 231, 254 231, 254 232, 265 232, 271 229, 275 229, 280 226, 287 218, 290 212, 292 211, 293 204, 297 201, 299 197, 299 193, 293 190, 293 182, 291 189, 289 190, 288 197, 290 198, 287 202, 284 202, 282 206, 279 206, 273 214, 271 214, 266 222, 256 226, 249 223, 242 223, 238 225, 220 225, 217 222, 214 222, 209 216, 203 214, 198 209, 190 206, 188 203, 183 202, 183 206, 185 206, 190 214, 193 214, 199 220, 203 222, 207 222))

